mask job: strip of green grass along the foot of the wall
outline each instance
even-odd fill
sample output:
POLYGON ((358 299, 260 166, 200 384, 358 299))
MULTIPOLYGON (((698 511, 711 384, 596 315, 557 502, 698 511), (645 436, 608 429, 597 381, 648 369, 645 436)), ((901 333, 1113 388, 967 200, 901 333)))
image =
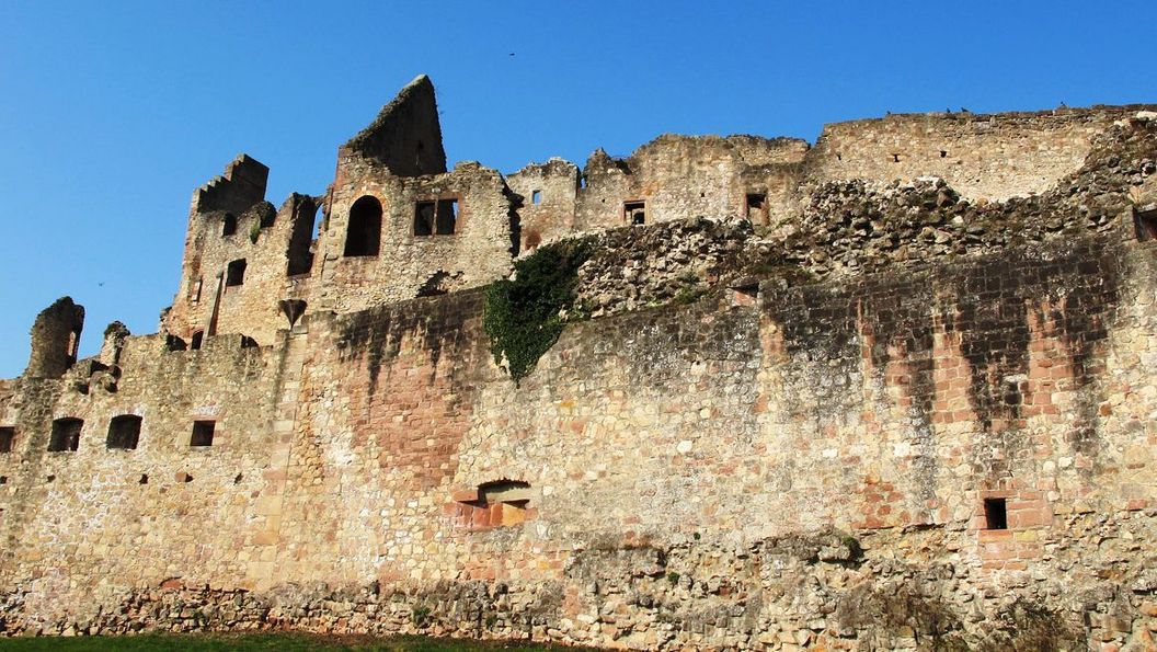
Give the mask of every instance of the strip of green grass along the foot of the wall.
MULTIPOLYGON (((52 652, 297 652, 307 650, 351 652, 464 652, 469 650, 521 650, 523 652, 567 651, 578 647, 500 640, 462 640, 398 636, 320 636, 311 633, 186 633, 140 636, 91 636, 76 638, 5 638, 0 650, 52 652)), ((590 649, 585 649, 590 650, 590 649)))

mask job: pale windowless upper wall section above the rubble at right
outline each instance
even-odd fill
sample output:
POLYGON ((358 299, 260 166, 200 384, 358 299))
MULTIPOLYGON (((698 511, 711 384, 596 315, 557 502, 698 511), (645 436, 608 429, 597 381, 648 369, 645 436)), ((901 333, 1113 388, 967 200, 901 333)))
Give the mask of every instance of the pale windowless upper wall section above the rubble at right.
POLYGON ((935 175, 971 200, 1040 193, 1081 167, 1093 135, 1136 110, 909 113, 826 125, 808 155, 808 180, 935 175))

